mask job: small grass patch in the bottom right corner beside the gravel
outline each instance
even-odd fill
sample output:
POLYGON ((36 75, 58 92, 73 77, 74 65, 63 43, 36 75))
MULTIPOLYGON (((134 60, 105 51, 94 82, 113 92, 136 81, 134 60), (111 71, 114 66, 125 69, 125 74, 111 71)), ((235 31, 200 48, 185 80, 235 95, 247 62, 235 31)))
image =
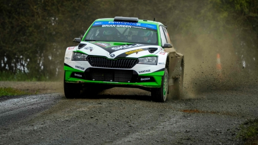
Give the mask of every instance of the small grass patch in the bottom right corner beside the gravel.
POLYGON ((237 137, 245 140, 245 145, 258 145, 258 118, 249 119, 240 125, 237 137))

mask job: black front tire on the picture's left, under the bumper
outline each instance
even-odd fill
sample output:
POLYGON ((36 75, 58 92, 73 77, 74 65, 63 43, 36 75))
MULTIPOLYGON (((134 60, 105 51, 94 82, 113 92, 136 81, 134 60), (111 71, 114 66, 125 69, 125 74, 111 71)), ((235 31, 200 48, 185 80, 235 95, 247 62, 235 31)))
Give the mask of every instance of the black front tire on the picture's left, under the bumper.
POLYGON ((80 95, 81 85, 75 83, 65 83, 65 72, 64 72, 64 95, 67 99, 73 99, 80 95))

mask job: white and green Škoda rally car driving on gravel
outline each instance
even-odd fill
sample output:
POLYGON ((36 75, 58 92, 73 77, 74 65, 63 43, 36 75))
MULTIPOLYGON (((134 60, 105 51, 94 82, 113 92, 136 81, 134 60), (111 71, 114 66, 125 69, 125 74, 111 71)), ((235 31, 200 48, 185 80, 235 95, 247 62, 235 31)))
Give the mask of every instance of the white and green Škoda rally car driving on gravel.
POLYGON ((95 20, 64 56, 64 94, 75 98, 113 87, 151 91, 157 102, 182 94, 184 56, 172 47, 167 26, 138 18, 95 20))

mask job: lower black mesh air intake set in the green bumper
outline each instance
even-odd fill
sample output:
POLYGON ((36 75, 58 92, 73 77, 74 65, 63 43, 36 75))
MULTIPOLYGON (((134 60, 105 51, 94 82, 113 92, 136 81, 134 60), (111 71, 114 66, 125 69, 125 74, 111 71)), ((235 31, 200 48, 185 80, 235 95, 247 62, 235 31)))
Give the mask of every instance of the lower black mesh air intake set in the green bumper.
POLYGON ((89 79, 93 81, 135 82, 138 77, 133 70, 89 68, 85 73, 89 74, 89 79))

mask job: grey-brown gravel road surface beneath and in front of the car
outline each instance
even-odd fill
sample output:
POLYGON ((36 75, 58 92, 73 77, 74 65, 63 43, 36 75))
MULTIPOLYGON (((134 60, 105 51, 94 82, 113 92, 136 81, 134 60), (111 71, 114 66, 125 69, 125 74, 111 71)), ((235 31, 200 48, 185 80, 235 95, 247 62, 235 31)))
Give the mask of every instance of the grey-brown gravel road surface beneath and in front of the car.
POLYGON ((258 116, 257 86, 166 103, 139 89, 86 94, 0 97, 0 145, 242 145, 239 125, 258 116))

